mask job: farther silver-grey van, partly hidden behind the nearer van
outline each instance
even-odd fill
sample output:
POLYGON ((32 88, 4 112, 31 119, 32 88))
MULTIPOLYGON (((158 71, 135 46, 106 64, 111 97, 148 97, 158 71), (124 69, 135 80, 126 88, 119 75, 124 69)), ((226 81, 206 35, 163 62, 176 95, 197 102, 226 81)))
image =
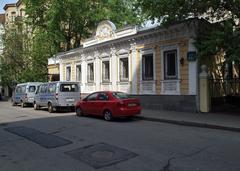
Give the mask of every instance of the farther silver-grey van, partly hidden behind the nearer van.
POLYGON ((12 96, 12 105, 21 104, 21 107, 25 107, 29 104, 32 105, 37 86, 40 84, 40 82, 17 84, 12 96))

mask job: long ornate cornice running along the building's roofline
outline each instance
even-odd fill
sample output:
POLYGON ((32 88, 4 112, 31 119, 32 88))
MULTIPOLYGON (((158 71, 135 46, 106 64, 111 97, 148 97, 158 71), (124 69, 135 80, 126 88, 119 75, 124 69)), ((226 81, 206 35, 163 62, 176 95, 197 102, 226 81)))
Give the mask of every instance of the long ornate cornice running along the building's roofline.
MULTIPOLYGON (((113 38, 106 41, 100 41, 99 43, 93 43, 90 46, 86 46, 86 47, 83 46, 77 49, 72 49, 67 52, 56 54, 55 56, 60 59, 69 59, 76 56, 80 56, 83 53, 91 56, 91 53, 94 51, 99 51, 101 53, 101 51, 104 51, 106 49, 111 49, 111 48, 124 49, 128 46, 129 48, 131 48, 131 45, 136 43, 148 44, 151 42, 152 43, 161 42, 161 41, 167 41, 171 39, 179 39, 179 38, 187 38, 187 37, 194 38, 197 34, 196 26, 198 27, 199 22, 204 22, 204 21, 201 19, 195 18, 195 19, 188 19, 182 22, 178 22, 168 27, 158 26, 150 29, 138 29, 134 34, 126 34, 125 36, 122 36, 118 39, 113 38)), ((122 32, 126 30, 127 29, 123 29, 121 31, 116 31, 116 32, 122 32)), ((87 41, 89 40, 91 41, 92 39, 88 39, 87 41)))

